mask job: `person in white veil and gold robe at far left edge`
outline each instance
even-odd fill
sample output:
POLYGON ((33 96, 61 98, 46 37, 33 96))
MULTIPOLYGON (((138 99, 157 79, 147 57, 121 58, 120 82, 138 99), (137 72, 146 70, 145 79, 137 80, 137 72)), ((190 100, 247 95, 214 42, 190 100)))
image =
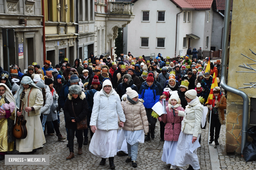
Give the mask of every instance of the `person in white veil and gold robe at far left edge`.
MULTIPOLYGON (((3 73, 4 74, 4 73, 3 73)), ((15 83, 16 84, 16 83, 15 83)), ((14 85, 15 85, 14 84, 14 85)), ((17 85, 16 85, 17 86, 17 85)), ((15 87, 15 86, 14 86, 15 87)), ((13 110, 5 110, 0 111, 0 161, 4 160, 5 154, 7 151, 12 151, 14 146, 15 138, 12 135, 12 128, 14 125, 14 119, 15 119, 15 112, 17 110, 16 108, 16 101, 13 97, 11 90, 6 86, 6 84, 0 83, 0 104, 14 104, 13 110)))

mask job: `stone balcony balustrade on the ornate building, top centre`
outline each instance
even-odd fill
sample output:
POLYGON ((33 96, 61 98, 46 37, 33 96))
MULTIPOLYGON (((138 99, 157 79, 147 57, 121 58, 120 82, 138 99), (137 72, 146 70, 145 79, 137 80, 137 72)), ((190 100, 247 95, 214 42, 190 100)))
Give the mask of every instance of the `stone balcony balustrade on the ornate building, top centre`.
POLYGON ((108 2, 108 13, 132 15, 133 5, 131 2, 108 2))

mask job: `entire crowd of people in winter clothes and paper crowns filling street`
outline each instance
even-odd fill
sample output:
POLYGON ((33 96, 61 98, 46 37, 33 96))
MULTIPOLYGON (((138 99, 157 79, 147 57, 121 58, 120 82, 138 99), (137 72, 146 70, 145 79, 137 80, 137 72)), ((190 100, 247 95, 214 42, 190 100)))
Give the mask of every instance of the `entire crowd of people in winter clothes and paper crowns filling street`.
POLYGON ((81 155, 90 129, 89 151, 102 158, 100 165, 108 158, 110 168, 115 169, 114 156, 122 147, 125 149, 120 151, 128 153, 126 162, 137 167, 139 143, 155 139, 159 121, 162 161, 171 164, 170 169, 186 164, 189 170, 200 169, 197 152, 189 152, 189 143, 201 139, 206 105, 208 121, 212 114, 209 143, 219 144, 226 99, 220 87, 215 87, 216 98, 206 103, 212 76, 220 73, 220 60, 210 63, 208 58, 202 59, 201 51, 190 52, 172 60, 160 53, 148 60, 144 55, 135 58, 130 52, 116 60, 91 53, 84 61, 75 59, 74 65, 67 58, 55 67, 46 60, 42 68, 33 62, 23 72, 17 64, 12 64, 10 73, 0 67, 0 160, 14 148, 21 154, 34 153, 46 143, 45 135, 54 133, 58 141, 66 139, 62 134, 67 133, 66 159, 73 159, 74 138, 81 155), (209 72, 205 72, 207 64, 209 72), (152 109, 158 102, 165 110, 161 116, 152 109), (66 132, 59 130, 62 110, 66 132), (28 134, 15 140, 11 129, 20 115, 27 120, 28 134), (78 129, 77 123, 85 118, 88 128, 78 129))

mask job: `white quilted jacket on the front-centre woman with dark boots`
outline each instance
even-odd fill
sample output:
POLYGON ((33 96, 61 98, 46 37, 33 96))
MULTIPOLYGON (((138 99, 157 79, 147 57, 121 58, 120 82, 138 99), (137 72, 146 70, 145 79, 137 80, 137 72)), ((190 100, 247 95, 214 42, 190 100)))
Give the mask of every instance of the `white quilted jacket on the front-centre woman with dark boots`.
POLYGON ((103 89, 95 94, 90 126, 96 126, 101 130, 118 129, 118 116, 125 122, 120 97, 115 90, 109 97, 102 91, 103 89))

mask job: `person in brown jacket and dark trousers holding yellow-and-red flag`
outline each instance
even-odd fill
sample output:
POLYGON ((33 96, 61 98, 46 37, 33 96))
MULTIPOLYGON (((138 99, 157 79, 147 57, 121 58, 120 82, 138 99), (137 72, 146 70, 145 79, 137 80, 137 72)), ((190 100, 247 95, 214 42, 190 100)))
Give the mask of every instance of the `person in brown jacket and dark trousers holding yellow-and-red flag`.
MULTIPOLYGON (((208 63, 209 64, 209 63, 208 63)), ((207 65, 208 67, 208 65, 207 65)), ((221 125, 225 124, 224 109, 226 109, 226 98, 221 93, 220 87, 218 87, 216 73, 213 74, 213 80, 211 84, 210 93, 206 101, 206 106, 209 108, 207 114, 207 121, 210 123, 208 140, 209 144, 215 142, 215 145, 219 145, 218 139, 220 135, 221 125), (214 138, 215 128, 215 138, 214 138)))

